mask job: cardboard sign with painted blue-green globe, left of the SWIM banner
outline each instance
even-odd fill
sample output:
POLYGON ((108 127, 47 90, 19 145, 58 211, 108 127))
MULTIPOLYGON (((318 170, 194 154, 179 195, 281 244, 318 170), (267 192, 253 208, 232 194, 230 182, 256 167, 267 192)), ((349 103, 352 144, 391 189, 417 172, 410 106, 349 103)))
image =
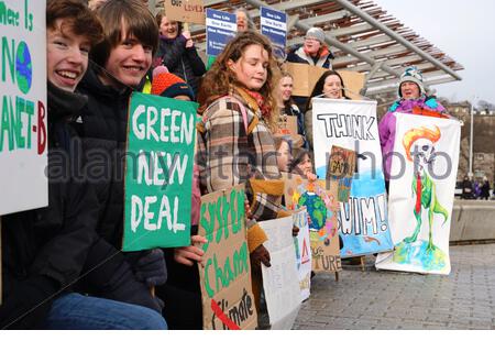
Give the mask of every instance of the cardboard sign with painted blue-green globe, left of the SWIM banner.
POLYGON ((337 190, 338 185, 330 186, 330 190, 327 190, 323 180, 310 183, 292 174, 285 179, 287 208, 296 210, 305 207, 309 215, 309 239, 315 272, 333 273, 342 270, 337 220, 339 212, 337 190))

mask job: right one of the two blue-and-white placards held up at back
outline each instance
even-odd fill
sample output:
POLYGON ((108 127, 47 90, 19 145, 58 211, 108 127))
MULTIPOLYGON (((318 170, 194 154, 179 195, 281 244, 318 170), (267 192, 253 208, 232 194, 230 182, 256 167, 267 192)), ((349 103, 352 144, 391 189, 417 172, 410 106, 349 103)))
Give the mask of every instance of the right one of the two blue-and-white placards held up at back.
POLYGON ((260 26, 263 35, 272 42, 276 57, 285 58, 287 42, 287 14, 271 8, 260 8, 260 26))

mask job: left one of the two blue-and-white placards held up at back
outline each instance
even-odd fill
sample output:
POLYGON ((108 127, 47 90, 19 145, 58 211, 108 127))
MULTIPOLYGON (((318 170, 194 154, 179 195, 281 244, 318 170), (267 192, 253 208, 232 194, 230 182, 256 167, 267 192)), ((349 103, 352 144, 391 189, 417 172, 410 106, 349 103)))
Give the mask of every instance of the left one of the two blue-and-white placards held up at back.
POLYGON ((235 14, 207 9, 207 55, 218 56, 227 43, 235 36, 238 24, 235 14))

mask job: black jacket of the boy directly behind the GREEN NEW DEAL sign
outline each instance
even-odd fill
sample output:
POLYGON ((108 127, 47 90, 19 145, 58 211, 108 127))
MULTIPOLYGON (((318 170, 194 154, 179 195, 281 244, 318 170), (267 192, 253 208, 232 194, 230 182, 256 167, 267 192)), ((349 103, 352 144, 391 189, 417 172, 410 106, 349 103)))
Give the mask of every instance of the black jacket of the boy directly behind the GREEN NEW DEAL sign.
POLYGON ((122 246, 124 153, 131 89, 105 86, 90 67, 78 86, 88 96, 80 123, 85 172, 98 197, 98 233, 114 248, 122 246))

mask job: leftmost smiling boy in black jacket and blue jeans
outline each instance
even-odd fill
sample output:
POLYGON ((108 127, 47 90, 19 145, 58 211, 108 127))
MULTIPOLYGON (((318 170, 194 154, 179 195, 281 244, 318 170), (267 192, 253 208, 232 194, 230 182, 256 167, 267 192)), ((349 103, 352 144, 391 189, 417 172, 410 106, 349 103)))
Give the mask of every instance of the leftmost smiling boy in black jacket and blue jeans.
MULTIPOLYGON (((48 0, 46 28, 48 207, 2 219, 0 328, 164 329, 163 318, 148 308, 81 295, 75 285, 95 266, 89 258, 95 258, 94 249, 101 240, 95 230, 95 194, 85 180, 73 177, 81 169, 76 169, 80 165, 74 150, 77 136, 68 121, 87 102, 74 90, 102 29, 79 0, 48 0)), ((141 287, 136 280, 125 284, 141 287)), ((145 286, 141 289, 146 293, 145 286)))

